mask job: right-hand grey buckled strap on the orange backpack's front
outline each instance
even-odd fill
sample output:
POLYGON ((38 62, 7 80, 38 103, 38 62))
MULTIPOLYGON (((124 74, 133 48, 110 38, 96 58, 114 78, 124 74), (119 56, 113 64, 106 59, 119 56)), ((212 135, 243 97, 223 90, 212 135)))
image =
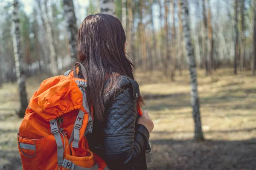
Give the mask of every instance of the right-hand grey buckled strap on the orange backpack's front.
MULTIPOLYGON (((80 132, 79 131, 82 127, 83 119, 84 119, 84 112, 80 110, 78 112, 77 117, 76 117, 76 122, 75 122, 75 125, 74 125, 74 128, 73 128, 74 140, 73 140, 72 147, 78 148, 79 137, 80 137, 80 132)), ((72 136, 72 134, 71 134, 71 136, 72 136)))

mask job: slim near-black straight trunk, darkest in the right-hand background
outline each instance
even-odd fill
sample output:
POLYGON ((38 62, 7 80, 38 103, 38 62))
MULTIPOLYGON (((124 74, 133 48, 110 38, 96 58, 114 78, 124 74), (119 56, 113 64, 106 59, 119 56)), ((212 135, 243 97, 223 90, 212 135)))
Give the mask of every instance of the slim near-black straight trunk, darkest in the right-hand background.
POLYGON ((235 42, 235 55, 234 55, 234 74, 237 74, 237 58, 239 55, 239 40, 238 40, 238 0, 235 0, 235 34, 236 34, 236 42, 235 42))

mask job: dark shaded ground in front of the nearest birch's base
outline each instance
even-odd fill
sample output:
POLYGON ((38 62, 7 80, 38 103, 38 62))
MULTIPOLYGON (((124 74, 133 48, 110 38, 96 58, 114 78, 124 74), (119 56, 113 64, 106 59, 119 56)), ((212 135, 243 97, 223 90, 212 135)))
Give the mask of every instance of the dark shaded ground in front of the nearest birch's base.
POLYGON ((151 140, 149 170, 255 170, 256 139, 246 141, 151 140))

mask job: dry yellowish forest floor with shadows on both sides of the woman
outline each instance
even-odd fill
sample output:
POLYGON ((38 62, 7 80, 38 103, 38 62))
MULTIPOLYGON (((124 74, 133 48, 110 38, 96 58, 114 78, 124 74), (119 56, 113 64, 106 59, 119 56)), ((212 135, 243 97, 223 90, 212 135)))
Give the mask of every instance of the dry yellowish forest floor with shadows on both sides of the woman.
MULTIPOLYGON (((41 78, 27 82, 28 96, 41 78)), ((205 77, 198 71, 204 142, 193 141, 189 73, 175 82, 161 72, 137 71, 136 79, 155 128, 150 134, 149 170, 256 170, 256 77, 219 69, 205 77)), ((21 122, 17 86, 0 88, 0 170, 22 170, 16 134, 21 122)))

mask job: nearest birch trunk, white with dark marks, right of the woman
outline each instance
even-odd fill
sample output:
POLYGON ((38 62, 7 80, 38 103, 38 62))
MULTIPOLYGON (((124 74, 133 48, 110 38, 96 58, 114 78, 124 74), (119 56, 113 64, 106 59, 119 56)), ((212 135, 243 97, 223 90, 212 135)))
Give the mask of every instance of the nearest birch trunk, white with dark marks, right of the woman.
POLYGON ((190 71, 190 81, 191 81, 191 102, 193 108, 193 118, 195 122, 195 136, 196 141, 204 140, 202 127, 201 127, 201 117, 199 109, 199 97, 197 88, 197 74, 196 74, 196 62, 194 56, 194 48, 192 45, 190 26, 189 26, 189 8, 188 1, 181 0, 181 18, 183 26, 183 37, 186 43, 187 56, 189 58, 189 71, 190 71))

